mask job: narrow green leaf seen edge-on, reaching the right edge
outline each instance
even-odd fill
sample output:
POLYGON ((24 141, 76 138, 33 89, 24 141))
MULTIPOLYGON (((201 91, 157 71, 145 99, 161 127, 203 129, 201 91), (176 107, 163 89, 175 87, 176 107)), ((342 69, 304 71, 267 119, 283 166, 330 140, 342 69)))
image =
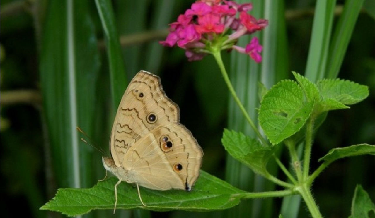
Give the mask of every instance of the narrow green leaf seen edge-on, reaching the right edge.
POLYGON ((375 145, 359 144, 351 145, 344 148, 333 148, 324 157, 320 158, 319 161, 326 161, 331 163, 339 158, 351 157, 363 154, 375 155, 375 145))

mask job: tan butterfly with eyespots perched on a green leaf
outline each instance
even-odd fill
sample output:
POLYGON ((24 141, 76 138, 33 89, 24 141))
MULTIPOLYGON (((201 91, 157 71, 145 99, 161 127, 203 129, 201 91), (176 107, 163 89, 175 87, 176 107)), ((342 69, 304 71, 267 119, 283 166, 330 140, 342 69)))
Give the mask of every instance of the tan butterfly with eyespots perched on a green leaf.
POLYGON ((180 124, 178 105, 163 91, 160 78, 141 70, 129 83, 118 106, 110 138, 111 157, 103 165, 113 173, 115 206, 121 181, 153 190, 190 191, 198 179, 203 151, 180 124))

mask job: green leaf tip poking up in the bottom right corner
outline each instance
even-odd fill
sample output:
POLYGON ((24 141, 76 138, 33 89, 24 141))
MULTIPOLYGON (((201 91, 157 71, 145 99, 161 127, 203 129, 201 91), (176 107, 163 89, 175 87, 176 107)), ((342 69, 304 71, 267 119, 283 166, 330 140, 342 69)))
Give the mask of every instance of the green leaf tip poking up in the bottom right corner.
POLYGON ((349 218, 369 218, 370 211, 375 213, 375 205, 371 201, 369 194, 363 190, 362 185, 357 185, 349 218))

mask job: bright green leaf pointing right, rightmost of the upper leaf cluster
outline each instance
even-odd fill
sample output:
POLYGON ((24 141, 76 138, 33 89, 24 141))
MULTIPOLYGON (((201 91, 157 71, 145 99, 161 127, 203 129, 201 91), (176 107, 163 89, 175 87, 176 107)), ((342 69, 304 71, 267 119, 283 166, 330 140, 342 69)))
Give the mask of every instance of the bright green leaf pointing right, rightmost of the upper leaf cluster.
POLYGON ((322 79, 317 82, 323 100, 334 99, 344 105, 354 105, 369 96, 369 87, 341 79, 322 79))

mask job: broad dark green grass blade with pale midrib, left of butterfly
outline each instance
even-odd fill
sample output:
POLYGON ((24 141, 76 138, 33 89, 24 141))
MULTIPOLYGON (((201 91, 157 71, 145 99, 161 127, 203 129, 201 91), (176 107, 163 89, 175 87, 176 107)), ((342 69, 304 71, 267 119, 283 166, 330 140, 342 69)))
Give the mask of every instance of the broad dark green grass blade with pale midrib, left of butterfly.
POLYGON ((88 1, 51 2, 41 40, 43 105, 59 187, 92 181, 91 170, 81 174, 80 166, 90 166, 90 152, 79 145, 76 130, 79 125, 90 134, 99 68, 88 8, 88 1))

